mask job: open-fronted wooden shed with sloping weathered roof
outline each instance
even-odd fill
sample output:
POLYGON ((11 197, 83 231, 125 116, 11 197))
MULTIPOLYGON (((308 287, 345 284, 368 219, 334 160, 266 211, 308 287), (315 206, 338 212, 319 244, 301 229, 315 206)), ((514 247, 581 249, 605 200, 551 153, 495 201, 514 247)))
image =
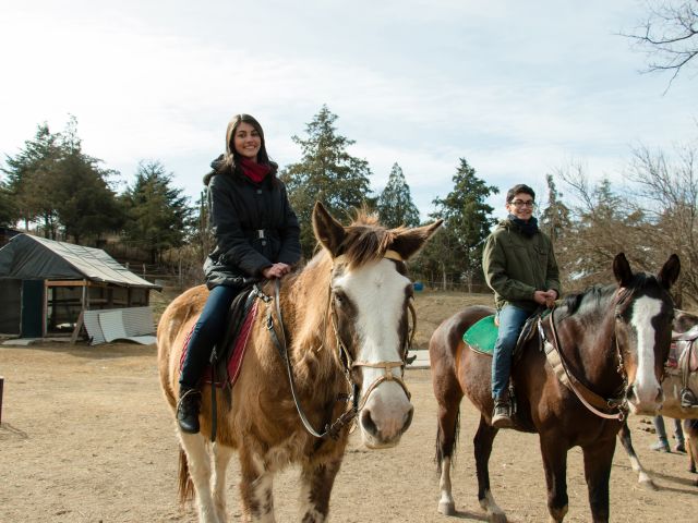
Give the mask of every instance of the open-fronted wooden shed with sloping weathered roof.
POLYGON ((99 248, 19 234, 0 248, 0 333, 74 339, 86 311, 148 306, 151 290, 99 248))

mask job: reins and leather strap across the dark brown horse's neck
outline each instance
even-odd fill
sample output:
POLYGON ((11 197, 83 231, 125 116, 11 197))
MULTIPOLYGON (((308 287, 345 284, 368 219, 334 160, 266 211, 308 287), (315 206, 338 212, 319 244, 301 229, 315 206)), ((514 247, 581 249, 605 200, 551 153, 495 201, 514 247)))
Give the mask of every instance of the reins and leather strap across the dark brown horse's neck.
MULTIPOLYGON (((553 309, 554 312, 554 309, 553 309)), ((553 313, 547 315, 547 320, 550 323, 551 331, 553 333, 552 343, 545 337, 545 331, 543 329, 543 319, 539 318, 538 320, 538 330, 541 338, 541 343, 543 345, 543 350, 545 351, 545 357, 547 358, 547 363, 550 363, 551 367, 553 367, 553 372, 557 379, 568 387, 575 396, 581 401, 581 403, 593 414, 599 417, 603 417, 605 419, 617 419, 618 422, 623 422, 627 416, 627 406, 625 403, 625 399, 623 399, 623 394, 619 398, 604 399, 603 397, 597 394, 593 390, 589 389, 586 385, 583 385, 569 369, 565 357, 561 351, 559 338, 557 336, 557 329, 555 327, 555 321, 553 321, 553 313), (616 411, 614 413, 609 413, 604 411, 616 411)), ((627 387, 627 376, 625 375, 625 367, 623 365, 623 353, 621 348, 618 346, 618 337, 615 338, 615 346, 618 352, 619 364, 617 372, 623 377, 624 387, 627 387)))

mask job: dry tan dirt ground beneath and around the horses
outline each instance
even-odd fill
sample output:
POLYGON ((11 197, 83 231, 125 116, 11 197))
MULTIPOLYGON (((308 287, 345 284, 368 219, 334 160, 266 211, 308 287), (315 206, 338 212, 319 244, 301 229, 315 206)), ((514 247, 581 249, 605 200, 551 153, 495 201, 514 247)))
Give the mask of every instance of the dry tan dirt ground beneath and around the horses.
MULTIPOLYGON (((418 299, 420 345, 445 317, 444 309, 455 311, 466 301, 462 295, 418 299)), ((159 389, 155 357, 155 346, 134 344, 0 346, 0 522, 195 521, 192 506, 177 504, 174 424, 159 389)), ((436 405, 430 370, 410 369, 407 381, 416 408, 412 426, 389 450, 366 450, 358 435, 352 436, 334 489, 332 521, 449 521, 436 512, 436 405)), ((453 474, 458 514, 450 520, 486 521, 477 500, 472 458, 477 415, 467 401, 461 416, 453 474)), ((630 419, 636 450, 660 489, 638 486, 618 446, 611 520, 696 522, 697 476, 687 472, 685 454, 648 450, 654 441, 649 426, 647 418, 630 419)), ((667 428, 671 431, 671 424, 667 428)), ((590 512, 579 449, 570 451, 568 461, 566 521, 586 522, 590 512)), ((493 494, 510 522, 547 521, 535 436, 503 430, 490 467, 493 494)), ((231 521, 240 520, 237 473, 233 460, 228 475, 231 521)), ((297 473, 290 469, 275 483, 279 522, 298 520, 297 473)))

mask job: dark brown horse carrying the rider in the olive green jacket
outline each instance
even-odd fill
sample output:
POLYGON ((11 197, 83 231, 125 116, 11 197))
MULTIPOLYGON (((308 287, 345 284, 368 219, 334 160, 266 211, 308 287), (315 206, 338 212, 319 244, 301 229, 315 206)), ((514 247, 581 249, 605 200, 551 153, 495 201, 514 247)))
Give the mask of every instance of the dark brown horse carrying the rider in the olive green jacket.
MULTIPOLYGON (((567 513, 567 451, 577 446, 583 452, 592 520, 609 521, 611 463, 626 409, 654 413, 662 402, 659 382, 669 354, 673 316, 667 290, 678 277, 678 257, 672 255, 654 277, 633 273, 625 256, 618 254, 613 271, 617 287, 594 287, 568 296, 547 317, 552 321, 541 321, 539 330, 544 340, 539 335, 526 342, 513 366, 515 428, 540 435, 553 522, 562 522, 567 513), (546 352, 559 354, 571 385, 563 385, 558 378, 562 374, 547 362, 546 352), (603 409, 600 403, 611 406, 603 409)), ((493 313, 479 306, 456 314, 434 331, 429 351, 438 403, 438 510, 455 512, 452 457, 460 401, 468 396, 481 413, 473 440, 478 499, 490 521, 504 522, 506 516, 490 490, 489 461, 497 434, 491 425, 492 358, 470 350, 462 341, 462 333, 471 325, 493 313)))

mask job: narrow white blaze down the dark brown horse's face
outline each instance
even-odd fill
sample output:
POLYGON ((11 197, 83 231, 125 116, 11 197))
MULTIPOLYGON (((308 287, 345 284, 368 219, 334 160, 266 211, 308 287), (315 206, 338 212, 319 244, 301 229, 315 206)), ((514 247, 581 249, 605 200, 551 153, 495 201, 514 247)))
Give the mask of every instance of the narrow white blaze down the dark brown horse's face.
POLYGON ((637 373, 633 384, 635 394, 630 399, 633 410, 654 411, 660 391, 659 381, 654 375, 654 328, 652 318, 662 312, 662 301, 642 296, 633 305, 630 324, 637 332, 637 373), (636 403, 634 403, 636 402, 636 403))

